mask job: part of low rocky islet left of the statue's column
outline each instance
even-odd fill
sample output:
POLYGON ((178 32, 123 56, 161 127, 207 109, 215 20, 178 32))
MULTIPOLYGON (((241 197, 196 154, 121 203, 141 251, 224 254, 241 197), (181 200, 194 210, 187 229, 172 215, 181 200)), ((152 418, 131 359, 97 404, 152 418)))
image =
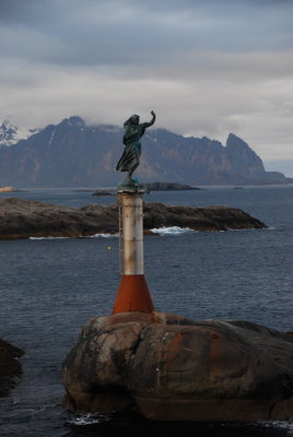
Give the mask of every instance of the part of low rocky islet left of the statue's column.
POLYGON ((17 198, 0 200, 0 239, 79 237, 118 229, 116 205, 55 205, 17 198))

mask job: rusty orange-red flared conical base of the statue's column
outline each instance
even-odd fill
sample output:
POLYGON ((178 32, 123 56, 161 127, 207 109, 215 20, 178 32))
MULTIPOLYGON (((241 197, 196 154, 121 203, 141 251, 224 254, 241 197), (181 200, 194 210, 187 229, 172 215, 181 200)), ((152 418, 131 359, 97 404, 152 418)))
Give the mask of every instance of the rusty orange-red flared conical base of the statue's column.
POLYGON ((124 274, 121 277, 113 314, 129 311, 154 311, 144 274, 124 274))

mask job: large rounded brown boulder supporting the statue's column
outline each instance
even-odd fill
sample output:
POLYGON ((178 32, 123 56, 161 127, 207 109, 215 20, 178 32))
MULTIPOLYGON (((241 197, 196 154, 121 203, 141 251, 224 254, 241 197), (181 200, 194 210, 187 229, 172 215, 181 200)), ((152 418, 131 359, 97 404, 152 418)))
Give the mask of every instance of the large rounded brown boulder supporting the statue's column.
POLYGON ((293 417, 293 335, 245 321, 126 312, 91 319, 63 363, 77 412, 157 421, 293 417))

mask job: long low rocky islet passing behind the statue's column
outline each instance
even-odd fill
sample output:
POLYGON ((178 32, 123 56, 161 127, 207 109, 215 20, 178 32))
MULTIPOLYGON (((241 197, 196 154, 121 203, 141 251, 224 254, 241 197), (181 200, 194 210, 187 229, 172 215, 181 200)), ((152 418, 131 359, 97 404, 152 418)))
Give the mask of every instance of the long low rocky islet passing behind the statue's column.
MULTIPOLYGON (((242 210, 226 206, 191 208, 144 203, 144 232, 162 226, 196 231, 266 227, 242 210)), ((17 198, 0 199, 0 239, 81 237, 118 232, 117 205, 60 206, 17 198)))

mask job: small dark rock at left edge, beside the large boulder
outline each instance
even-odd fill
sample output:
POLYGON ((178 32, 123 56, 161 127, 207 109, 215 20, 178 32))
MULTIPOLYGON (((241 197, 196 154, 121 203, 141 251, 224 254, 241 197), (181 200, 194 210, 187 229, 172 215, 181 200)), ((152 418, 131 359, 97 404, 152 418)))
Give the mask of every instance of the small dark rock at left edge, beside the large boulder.
POLYGON ((8 394, 9 390, 15 387, 22 374, 17 361, 22 355, 22 350, 0 339, 0 397, 8 394))

